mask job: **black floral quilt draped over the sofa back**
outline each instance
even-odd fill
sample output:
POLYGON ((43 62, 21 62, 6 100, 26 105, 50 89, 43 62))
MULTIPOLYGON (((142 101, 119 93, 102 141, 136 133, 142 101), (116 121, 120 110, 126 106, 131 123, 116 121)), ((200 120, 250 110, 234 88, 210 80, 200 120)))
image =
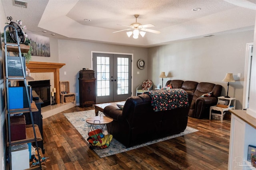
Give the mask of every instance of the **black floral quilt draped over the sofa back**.
POLYGON ((188 94, 182 89, 153 90, 144 92, 151 98, 154 111, 170 110, 178 107, 188 107, 188 94))

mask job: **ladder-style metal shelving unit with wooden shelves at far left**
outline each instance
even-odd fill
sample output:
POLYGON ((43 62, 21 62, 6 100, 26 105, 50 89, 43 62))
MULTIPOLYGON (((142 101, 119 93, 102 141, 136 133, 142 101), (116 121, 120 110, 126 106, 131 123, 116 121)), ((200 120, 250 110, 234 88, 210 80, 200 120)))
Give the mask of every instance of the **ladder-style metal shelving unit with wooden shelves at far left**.
MULTIPOLYGON (((19 30, 18 30, 19 31, 19 30)), ((29 92, 29 88, 26 82, 26 63, 24 62, 25 59, 22 59, 22 53, 26 53, 29 50, 29 47, 24 45, 24 44, 20 44, 19 42, 19 36, 18 36, 18 31, 17 29, 13 26, 13 25, 6 25, 4 27, 4 50, 5 50, 5 67, 4 67, 4 80, 5 80, 5 96, 6 96, 6 109, 7 109, 7 133, 8 133, 8 141, 7 141, 7 147, 8 147, 8 165, 9 165, 9 169, 12 170, 12 147, 14 145, 17 144, 22 144, 22 143, 34 143, 34 145, 36 146, 36 150, 38 153, 38 160, 40 160, 43 155, 42 155, 42 150, 40 148, 38 148, 38 141, 42 140, 42 136, 40 134, 39 128, 37 125, 34 124, 34 120, 33 120, 33 115, 32 112, 33 111, 38 111, 38 109, 36 108, 36 105, 31 102, 30 99, 30 92, 29 92), (10 30, 10 27, 12 28, 12 30, 14 30, 14 34, 16 35, 12 35, 15 36, 17 43, 7 43, 6 42, 6 29, 10 30), (18 74, 18 76, 13 76, 13 75, 9 75, 9 71, 8 69, 10 69, 10 62, 8 62, 8 58, 13 57, 10 56, 10 52, 15 52, 18 54, 18 57, 15 58, 15 60, 17 60, 17 63, 20 63, 20 70, 15 70, 15 73, 18 74), (9 64, 9 65, 8 65, 9 64), (24 94, 26 93, 26 95, 24 95, 23 101, 21 100, 20 102, 26 102, 27 103, 27 107, 25 108, 18 108, 18 109, 10 109, 10 102, 12 102, 11 100, 13 100, 12 97, 10 97, 9 92, 10 92, 10 88, 12 88, 12 84, 11 81, 23 81, 24 82, 24 94), (26 91, 26 92, 25 92, 26 91), (11 139, 11 128, 10 128, 10 117, 14 116, 15 114, 18 113, 29 113, 30 118, 31 118, 31 125, 26 125, 26 139, 22 139, 22 140, 18 140, 18 141, 13 141, 11 139)), ((31 94, 32 95, 32 94, 31 94)), ((24 104, 23 104, 24 105, 24 104)), ((30 162, 32 163, 32 162, 30 162)), ((42 168, 46 168, 46 166, 42 165, 41 161, 39 161, 39 166, 32 166, 30 164, 30 169, 42 169, 42 168)))

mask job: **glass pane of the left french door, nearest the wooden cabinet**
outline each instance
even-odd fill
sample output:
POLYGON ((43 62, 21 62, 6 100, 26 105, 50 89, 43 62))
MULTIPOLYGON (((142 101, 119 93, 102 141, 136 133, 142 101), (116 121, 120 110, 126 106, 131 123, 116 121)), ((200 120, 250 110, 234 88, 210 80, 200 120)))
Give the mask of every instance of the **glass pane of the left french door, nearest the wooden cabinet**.
POLYGON ((97 96, 110 95, 109 57, 97 57, 97 96))

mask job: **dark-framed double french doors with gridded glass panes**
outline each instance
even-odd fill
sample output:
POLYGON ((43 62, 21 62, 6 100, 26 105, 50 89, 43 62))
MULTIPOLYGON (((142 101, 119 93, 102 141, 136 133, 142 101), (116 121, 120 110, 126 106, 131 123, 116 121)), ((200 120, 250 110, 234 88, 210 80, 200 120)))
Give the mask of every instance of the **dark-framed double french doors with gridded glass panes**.
POLYGON ((93 53, 96 103, 126 100, 132 94, 132 55, 93 53))

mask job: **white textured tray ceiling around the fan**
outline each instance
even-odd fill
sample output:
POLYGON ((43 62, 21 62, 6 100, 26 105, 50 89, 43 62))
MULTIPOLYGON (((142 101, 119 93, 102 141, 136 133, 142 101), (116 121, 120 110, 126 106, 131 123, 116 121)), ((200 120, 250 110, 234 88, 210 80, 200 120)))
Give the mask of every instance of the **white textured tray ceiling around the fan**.
POLYGON ((181 39, 254 30, 256 0, 25 0, 28 8, 2 0, 6 16, 28 31, 58 39, 153 47, 181 39), (193 8, 202 8, 194 12, 193 8), (160 34, 128 38, 112 33, 135 22, 151 23, 160 34), (92 21, 84 21, 90 19, 92 21), (117 25, 119 24, 119 25, 117 25), (43 30, 48 31, 42 33, 43 30))

